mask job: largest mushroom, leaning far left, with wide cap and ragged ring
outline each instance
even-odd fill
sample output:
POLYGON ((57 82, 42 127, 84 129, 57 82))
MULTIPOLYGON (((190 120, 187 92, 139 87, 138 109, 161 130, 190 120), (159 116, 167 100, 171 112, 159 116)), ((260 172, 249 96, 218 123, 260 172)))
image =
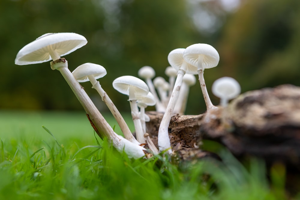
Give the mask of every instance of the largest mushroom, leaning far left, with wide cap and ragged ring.
POLYGON ((76 33, 49 33, 38 37, 33 42, 24 46, 15 59, 15 64, 27 65, 47 62, 51 59, 52 70, 59 70, 74 92, 75 96, 84 108, 88 119, 96 133, 101 137, 107 137, 109 142, 120 152, 125 151, 128 157, 139 158, 145 156, 145 148, 129 142, 118 136, 98 111, 94 103, 88 97, 84 89, 74 78, 68 69, 67 61, 60 58, 70 52, 84 46, 87 40, 82 35, 76 33))

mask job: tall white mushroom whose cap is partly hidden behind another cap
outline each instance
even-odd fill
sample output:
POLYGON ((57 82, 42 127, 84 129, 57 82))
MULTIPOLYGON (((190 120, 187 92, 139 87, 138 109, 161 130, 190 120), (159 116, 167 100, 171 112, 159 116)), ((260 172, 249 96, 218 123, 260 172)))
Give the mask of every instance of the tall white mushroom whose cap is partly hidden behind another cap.
POLYGON ((168 153, 172 153, 168 128, 169 128, 171 117, 173 115, 175 103, 179 95, 180 87, 182 84, 182 77, 185 73, 190 73, 190 74, 197 73, 197 68, 187 63, 183 59, 184 50, 185 49, 183 48, 174 49, 168 55, 168 61, 170 65, 175 69, 178 69, 177 78, 170 97, 170 101, 168 103, 166 112, 164 113, 164 116, 161 120, 161 124, 158 130, 158 147, 160 151, 167 150, 168 153))

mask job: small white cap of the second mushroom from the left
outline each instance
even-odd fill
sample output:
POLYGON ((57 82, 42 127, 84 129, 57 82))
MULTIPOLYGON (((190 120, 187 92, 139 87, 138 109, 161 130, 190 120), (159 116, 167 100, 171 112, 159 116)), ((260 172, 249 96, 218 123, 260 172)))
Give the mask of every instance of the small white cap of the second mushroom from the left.
POLYGON ((95 79, 102 78, 106 75, 106 69, 99 64, 84 63, 79 65, 73 72, 73 76, 78 82, 89 81, 88 76, 94 76, 95 79))

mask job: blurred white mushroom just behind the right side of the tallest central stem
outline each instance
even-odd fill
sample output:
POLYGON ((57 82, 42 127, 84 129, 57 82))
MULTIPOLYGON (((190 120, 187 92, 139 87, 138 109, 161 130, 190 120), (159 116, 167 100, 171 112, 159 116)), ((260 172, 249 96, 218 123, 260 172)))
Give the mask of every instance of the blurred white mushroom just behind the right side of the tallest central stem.
POLYGON ((182 78, 182 85, 179 92, 179 97, 176 101, 174 113, 183 115, 187 105, 188 94, 190 86, 196 84, 196 78, 193 74, 184 74, 182 78))

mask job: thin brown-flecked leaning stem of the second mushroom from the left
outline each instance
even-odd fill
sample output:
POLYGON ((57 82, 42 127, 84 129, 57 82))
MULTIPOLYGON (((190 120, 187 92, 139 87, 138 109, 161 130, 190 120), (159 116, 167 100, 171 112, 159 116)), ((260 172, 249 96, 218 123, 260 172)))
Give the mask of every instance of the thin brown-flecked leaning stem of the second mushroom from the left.
POLYGON ((98 93, 100 94, 102 101, 107 105, 108 109, 110 109, 110 112, 113 114, 114 118, 116 119, 117 123, 119 124, 119 127, 124 134, 124 137, 128 139, 130 142, 133 142, 135 144, 140 145, 140 143, 134 138, 132 135, 128 125, 126 124, 124 118, 122 117, 119 110, 116 108, 113 101, 110 99, 110 97, 106 94, 106 92, 101 87, 99 81, 95 79, 95 76, 88 76, 88 79, 90 80, 91 84, 93 85, 92 88, 96 89, 98 93))

